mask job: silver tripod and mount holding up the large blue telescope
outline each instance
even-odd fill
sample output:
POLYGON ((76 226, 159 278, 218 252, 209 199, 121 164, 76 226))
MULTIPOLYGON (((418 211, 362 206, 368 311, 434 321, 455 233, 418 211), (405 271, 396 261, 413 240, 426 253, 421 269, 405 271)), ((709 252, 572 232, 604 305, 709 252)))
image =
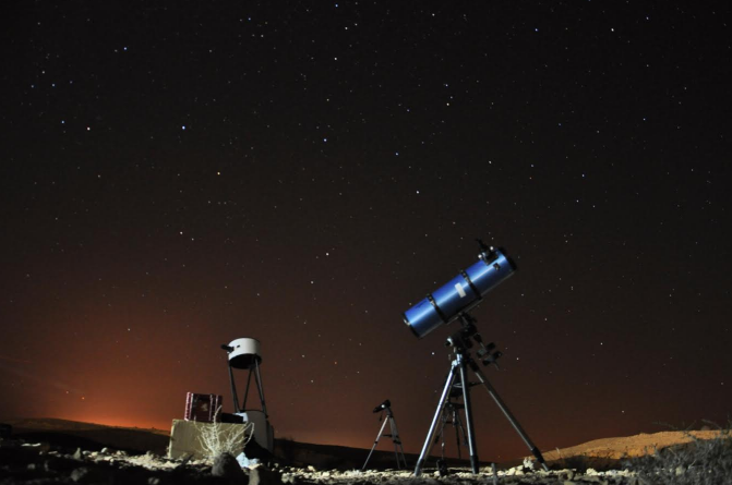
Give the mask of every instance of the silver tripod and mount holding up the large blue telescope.
POLYGON ((468 447, 470 450, 470 466, 472 469, 472 473, 478 473, 478 452, 476 450, 476 436, 473 431, 472 412, 470 407, 470 383, 467 378, 467 367, 470 367, 472 373, 480 380, 480 384, 482 384, 485 387, 488 393, 491 395, 497 407, 501 409, 501 411, 503 411, 503 414, 506 416, 508 422, 514 426, 514 429, 516 429, 516 432, 521 437, 524 442, 529 447, 529 449, 537 458, 539 463, 541 463, 543 469, 548 471, 549 468, 547 466, 547 463, 544 463, 544 458, 541 456, 541 451, 539 451, 539 448, 537 448, 531 442, 527 434, 521 428, 520 424, 518 424, 518 422, 511 413, 506 404, 503 402, 503 400, 501 400, 501 397, 495 391, 493 386, 491 386, 491 384, 488 381, 481 369, 478 367, 478 364, 470 355, 470 351, 468 349, 472 347, 472 340, 478 342, 478 344, 480 345, 480 350, 477 352, 477 354, 481 359, 483 365, 495 364, 495 361, 499 357, 501 357, 501 352, 491 353, 495 348, 495 345, 492 343, 490 343, 488 347, 483 345, 482 339, 478 334, 478 329, 476 328, 475 325, 475 318, 472 318, 467 313, 461 313, 459 315, 459 319, 460 324, 463 325, 463 328, 459 331, 449 336, 447 338, 447 342, 445 343, 447 347, 453 348, 455 352, 455 360, 453 361, 452 366, 449 368, 449 374, 447 375, 447 379, 445 381, 445 388, 443 389, 442 396, 440 397, 440 404, 437 405, 434 419, 432 420, 430 432, 428 433, 427 439, 424 440, 424 447, 422 448, 422 452, 419 456, 419 460, 417 460, 417 466, 415 468, 415 476, 419 476, 422 473, 422 464, 424 463, 424 460, 427 459, 427 456, 430 453, 430 450, 433 446, 432 439, 436 432, 437 424, 440 423, 440 419, 442 417, 442 414, 445 411, 447 402, 449 401, 449 392, 453 389, 453 386, 455 385, 455 379, 457 378, 458 374, 460 376, 460 387, 463 388, 463 404, 465 405, 465 423, 468 431, 468 447))

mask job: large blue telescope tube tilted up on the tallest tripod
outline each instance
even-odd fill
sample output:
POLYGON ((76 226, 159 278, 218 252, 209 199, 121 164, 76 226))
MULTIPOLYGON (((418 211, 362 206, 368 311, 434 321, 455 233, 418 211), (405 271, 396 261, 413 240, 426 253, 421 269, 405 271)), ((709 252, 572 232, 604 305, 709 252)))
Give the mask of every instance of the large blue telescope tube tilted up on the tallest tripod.
POLYGON ((514 272, 514 265, 500 250, 489 247, 480 240, 478 243, 482 250, 478 263, 404 313, 404 323, 418 338, 470 311, 485 293, 514 272))

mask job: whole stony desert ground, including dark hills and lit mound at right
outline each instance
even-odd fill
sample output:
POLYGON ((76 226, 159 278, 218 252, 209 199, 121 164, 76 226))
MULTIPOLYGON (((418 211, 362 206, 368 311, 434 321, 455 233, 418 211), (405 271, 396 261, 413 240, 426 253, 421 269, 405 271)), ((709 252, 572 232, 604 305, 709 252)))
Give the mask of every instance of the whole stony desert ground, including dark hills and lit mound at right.
MULTIPOLYGON (((159 431, 62 420, 15 426, 15 433, 10 426, 0 429, 0 485, 732 484, 729 429, 641 434, 545 451, 548 472, 527 460, 518 464, 519 459, 472 474, 460 468, 464 462, 453 461, 443 473, 425 465, 416 477, 413 469, 383 470, 394 465, 394 454, 380 456, 379 450, 369 465, 381 470, 361 472, 367 450, 279 440, 274 456, 242 469, 230 456, 215 461, 166 458, 169 436, 159 431)), ((416 458, 408 456, 408 463, 416 458)), ((434 466, 431 460, 429 464, 434 466)))

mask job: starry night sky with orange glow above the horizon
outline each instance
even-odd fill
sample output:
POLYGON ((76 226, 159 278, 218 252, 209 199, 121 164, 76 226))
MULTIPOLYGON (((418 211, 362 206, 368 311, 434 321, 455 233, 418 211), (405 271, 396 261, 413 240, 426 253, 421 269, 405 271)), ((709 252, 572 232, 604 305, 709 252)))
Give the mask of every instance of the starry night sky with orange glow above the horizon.
MULTIPOLYGON (((484 372, 539 448, 727 424, 727 3, 3 10, 0 417, 231 412, 252 337, 277 437, 370 448, 389 399, 419 452, 459 325, 401 313, 480 238, 517 266, 484 372)), ((527 454, 472 397, 480 458, 527 454)))

